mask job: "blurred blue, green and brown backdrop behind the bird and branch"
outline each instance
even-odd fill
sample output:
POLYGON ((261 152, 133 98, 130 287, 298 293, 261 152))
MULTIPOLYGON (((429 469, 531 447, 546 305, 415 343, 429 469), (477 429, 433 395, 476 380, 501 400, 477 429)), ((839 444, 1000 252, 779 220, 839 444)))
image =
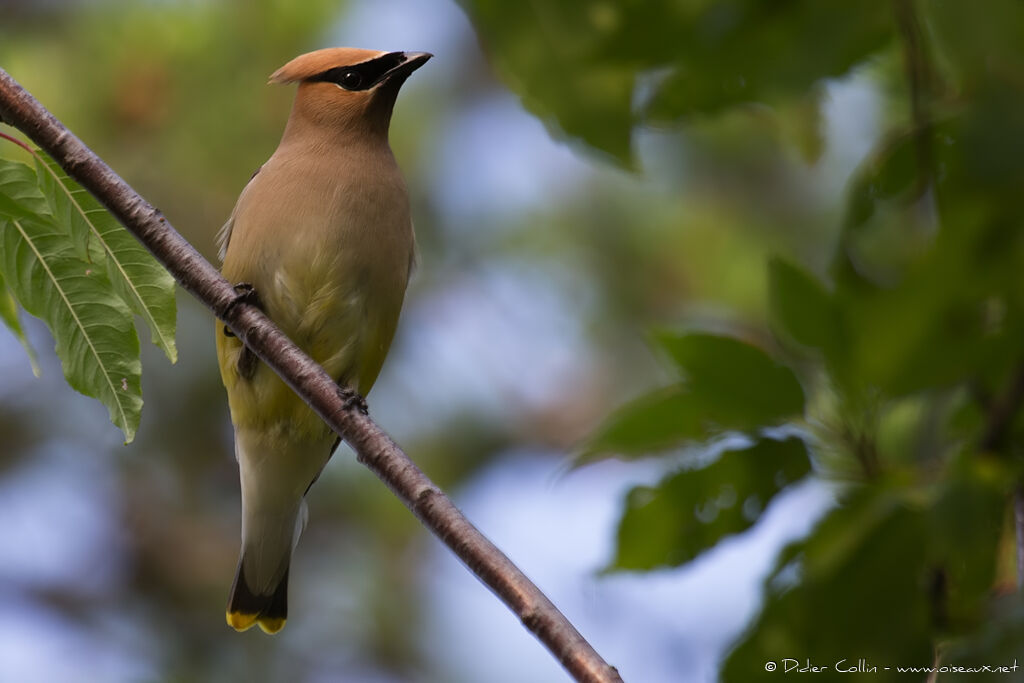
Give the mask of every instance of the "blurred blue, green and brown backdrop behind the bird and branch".
MULTIPOLYGON (((617 4, 587 16, 600 25, 617 4)), ((333 45, 433 52, 392 123, 421 253, 372 415, 625 680, 716 680, 775 553, 828 509, 829 486, 784 489, 752 529, 683 567, 602 572, 627 493, 692 454, 582 468, 573 457, 671 376, 652 329, 766 339, 768 258, 826 270, 848 180, 911 116, 898 46, 880 42, 772 106, 632 137, 627 125, 625 140, 595 144, 585 125, 566 134, 568 117, 531 114, 515 70, 495 69, 498 51, 564 68, 543 52, 562 49, 560 34, 481 40, 449 0, 2 0, 0 11, 0 66, 210 260, 288 116, 293 90, 265 85, 268 74, 333 45)), ((497 10, 479 11, 493 35, 497 10)), ((649 40, 671 52, 676 39, 649 40)), ((665 76, 626 91, 627 114, 665 76)), ((228 629, 230 427, 212 316, 184 294, 178 307, 179 360, 143 349, 145 408, 128 446, 65 384, 38 321, 26 323, 39 379, 0 332, 0 680, 566 679, 344 446, 308 498, 288 627, 228 629)))

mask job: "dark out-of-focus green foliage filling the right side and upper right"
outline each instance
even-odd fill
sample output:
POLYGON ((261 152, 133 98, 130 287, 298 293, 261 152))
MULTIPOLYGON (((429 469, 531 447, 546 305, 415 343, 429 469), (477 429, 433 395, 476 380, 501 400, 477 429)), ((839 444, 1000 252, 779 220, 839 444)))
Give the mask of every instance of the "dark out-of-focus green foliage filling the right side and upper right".
POLYGON ((787 656, 829 667, 1010 656, 979 629, 1006 601, 993 588, 1006 581, 997 558, 1024 455, 1021 4, 983 15, 943 0, 856 12, 797 0, 463 4, 526 105, 621 163, 644 126, 696 130, 737 108, 802 130, 788 140, 813 162, 823 79, 899 55, 901 77, 879 73, 905 103, 849 179, 827 279, 790 254, 763 261, 774 339, 759 336, 785 365, 738 341, 679 336, 669 350, 684 380, 622 408, 584 458, 672 455, 723 431, 761 439, 630 492, 618 569, 693 559, 756 520, 763 508, 745 517, 745 493, 767 502, 807 474, 798 453, 753 452, 778 443, 759 436, 778 420, 806 430, 811 459, 842 482, 835 510, 781 553, 723 680, 770 678, 765 661, 787 656), (602 100, 583 96, 612 74, 602 100), (776 481, 776 469, 794 476, 776 481))

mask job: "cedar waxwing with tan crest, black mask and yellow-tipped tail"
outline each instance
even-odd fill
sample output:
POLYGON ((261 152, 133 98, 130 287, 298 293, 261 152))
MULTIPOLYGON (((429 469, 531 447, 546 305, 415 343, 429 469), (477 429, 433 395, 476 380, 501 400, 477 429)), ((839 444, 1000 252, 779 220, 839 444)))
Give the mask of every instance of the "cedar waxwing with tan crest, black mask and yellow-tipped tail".
MULTIPOLYGON (((394 336, 415 253, 409 196, 388 145, 391 110, 430 56, 339 47, 275 71, 271 83, 299 84, 292 114, 218 234, 224 276, 340 386, 361 395, 394 336)), ((337 439, 217 327, 242 482, 242 553, 227 623, 276 633, 303 499, 337 439)))

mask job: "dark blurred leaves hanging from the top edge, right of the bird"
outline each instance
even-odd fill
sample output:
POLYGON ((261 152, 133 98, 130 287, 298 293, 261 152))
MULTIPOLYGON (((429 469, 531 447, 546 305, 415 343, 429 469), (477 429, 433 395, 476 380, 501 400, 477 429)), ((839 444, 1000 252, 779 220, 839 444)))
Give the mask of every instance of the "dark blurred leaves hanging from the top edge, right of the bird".
MULTIPOLYGON (((814 0, 461 4, 530 111, 623 164, 633 161, 634 125, 802 95, 869 56, 891 30, 885 0, 858 5, 855 22, 814 0)), ((813 99, 801 109, 816 111, 813 99)))

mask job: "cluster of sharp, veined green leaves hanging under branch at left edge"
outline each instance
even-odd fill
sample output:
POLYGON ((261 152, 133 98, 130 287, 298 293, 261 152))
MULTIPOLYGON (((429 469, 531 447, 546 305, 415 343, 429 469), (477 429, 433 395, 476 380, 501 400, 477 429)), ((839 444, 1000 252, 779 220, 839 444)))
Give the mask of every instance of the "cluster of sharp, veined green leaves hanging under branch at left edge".
POLYGON ((142 409, 134 315, 173 362, 174 280, 42 153, 0 159, 0 315, 34 357, 18 306, 46 323, 65 377, 131 441, 142 409))

